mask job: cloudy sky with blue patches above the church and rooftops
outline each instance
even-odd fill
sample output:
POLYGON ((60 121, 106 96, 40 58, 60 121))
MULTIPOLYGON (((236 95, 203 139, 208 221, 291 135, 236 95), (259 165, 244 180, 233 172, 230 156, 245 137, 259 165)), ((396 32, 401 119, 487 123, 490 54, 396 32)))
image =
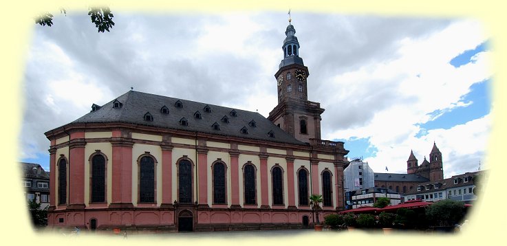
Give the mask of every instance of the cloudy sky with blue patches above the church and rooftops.
MULTIPOLYGON (((49 170, 44 133, 135 91, 268 116, 283 58, 287 12, 136 14, 112 10, 98 33, 85 12, 36 25, 23 71, 19 161, 49 170)), ((487 168, 490 36, 475 19, 310 13, 292 10, 320 102, 322 138, 375 172, 406 173, 435 143, 444 177, 487 168)))

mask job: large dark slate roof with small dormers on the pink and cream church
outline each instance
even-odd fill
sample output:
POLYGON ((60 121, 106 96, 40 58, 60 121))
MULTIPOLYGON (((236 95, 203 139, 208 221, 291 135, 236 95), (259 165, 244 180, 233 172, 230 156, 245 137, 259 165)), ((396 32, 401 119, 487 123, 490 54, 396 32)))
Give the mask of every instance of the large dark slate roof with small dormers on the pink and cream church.
POLYGON ((213 104, 194 102, 178 98, 169 98, 139 91, 128 91, 111 102, 96 107, 83 117, 72 123, 113 123, 125 122, 130 124, 141 124, 162 128, 178 129, 183 131, 197 131, 200 133, 211 133, 249 139, 259 139, 269 142, 281 142, 287 144, 307 145, 285 133, 281 128, 274 125, 270 120, 264 118, 260 113, 221 107, 213 104), (182 102, 183 107, 175 107, 177 101, 182 102), (120 107, 114 108, 114 102, 120 102, 120 107), (162 113, 162 107, 169 109, 169 114, 162 113), (211 112, 204 108, 208 106, 211 112), (195 118, 199 111, 202 118, 195 118), (237 116, 230 115, 235 111, 237 116), (144 120, 144 115, 149 113, 153 116, 152 121, 144 120), (222 122, 224 115, 229 123, 222 122), (180 120, 186 118, 188 126, 180 124, 180 120), (255 121, 255 126, 249 124, 255 121), (219 130, 213 128, 213 124, 219 124, 219 130), (248 134, 241 133, 241 128, 246 128, 248 134), (272 131, 273 137, 268 133, 272 131))

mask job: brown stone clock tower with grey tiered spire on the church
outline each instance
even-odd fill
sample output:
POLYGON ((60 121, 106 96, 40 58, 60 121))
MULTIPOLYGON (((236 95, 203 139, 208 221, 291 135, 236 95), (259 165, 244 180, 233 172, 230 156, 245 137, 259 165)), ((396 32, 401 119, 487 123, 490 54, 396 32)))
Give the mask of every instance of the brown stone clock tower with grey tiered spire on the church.
POLYGON ((270 112, 271 122, 283 131, 299 139, 321 139, 321 104, 308 101, 308 67, 299 57, 299 42, 294 36, 296 30, 290 24, 285 30, 283 41, 283 60, 274 78, 277 80, 278 105, 270 112))

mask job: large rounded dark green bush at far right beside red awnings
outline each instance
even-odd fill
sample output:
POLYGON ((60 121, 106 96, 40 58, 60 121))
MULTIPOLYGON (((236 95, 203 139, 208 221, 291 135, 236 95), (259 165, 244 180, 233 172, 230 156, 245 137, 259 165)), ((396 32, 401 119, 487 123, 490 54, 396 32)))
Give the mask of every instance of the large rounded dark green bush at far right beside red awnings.
POLYGON ((464 215, 464 203, 451 199, 437 201, 426 209, 428 221, 439 226, 451 226, 460 223, 464 215))

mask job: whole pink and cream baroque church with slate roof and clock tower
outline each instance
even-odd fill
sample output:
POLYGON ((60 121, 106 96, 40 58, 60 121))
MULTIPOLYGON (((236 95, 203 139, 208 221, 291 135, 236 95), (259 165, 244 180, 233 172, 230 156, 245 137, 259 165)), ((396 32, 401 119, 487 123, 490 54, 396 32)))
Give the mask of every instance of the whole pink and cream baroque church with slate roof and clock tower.
MULTIPOLYGON (((343 210, 343 142, 321 139, 319 102, 290 24, 274 74, 278 104, 259 113, 128 91, 50 139, 50 227, 228 231, 312 224, 343 210)), ((412 169, 411 169, 412 170, 412 169)), ((414 169, 414 172, 416 170, 414 169)))

